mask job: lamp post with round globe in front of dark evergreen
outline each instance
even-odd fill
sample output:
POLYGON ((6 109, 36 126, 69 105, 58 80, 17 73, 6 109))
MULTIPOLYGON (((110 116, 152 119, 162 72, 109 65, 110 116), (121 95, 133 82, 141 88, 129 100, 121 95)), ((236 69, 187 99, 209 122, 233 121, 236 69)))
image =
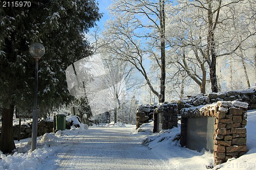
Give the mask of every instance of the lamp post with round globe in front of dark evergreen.
POLYGON ((34 109, 33 109, 33 122, 32 122, 32 144, 31 152, 36 149, 37 137, 37 86, 38 86, 38 60, 44 56, 45 47, 40 43, 33 43, 29 47, 29 53, 35 59, 35 93, 34 93, 34 109))

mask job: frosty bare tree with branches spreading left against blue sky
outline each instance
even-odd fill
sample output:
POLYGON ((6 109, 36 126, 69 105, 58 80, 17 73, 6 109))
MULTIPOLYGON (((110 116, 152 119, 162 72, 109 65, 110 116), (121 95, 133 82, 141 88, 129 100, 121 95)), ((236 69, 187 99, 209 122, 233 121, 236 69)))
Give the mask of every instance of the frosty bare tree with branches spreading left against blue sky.
POLYGON ((120 60, 128 61, 144 77, 159 102, 165 101, 165 5, 167 0, 113 1, 112 19, 106 24, 105 37, 109 48, 120 60), (145 68, 144 60, 151 58, 157 65, 158 87, 155 88, 145 68))

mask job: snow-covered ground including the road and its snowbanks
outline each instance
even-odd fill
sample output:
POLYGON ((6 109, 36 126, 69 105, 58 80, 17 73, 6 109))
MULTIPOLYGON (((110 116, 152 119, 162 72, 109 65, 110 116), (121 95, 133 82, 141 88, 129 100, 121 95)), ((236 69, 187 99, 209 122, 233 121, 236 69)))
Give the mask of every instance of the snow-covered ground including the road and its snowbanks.
MULTIPOLYGON (((152 134, 152 123, 137 132, 133 125, 101 125, 88 130, 72 128, 37 138, 37 149, 28 152, 29 139, 16 142, 13 155, 1 154, 2 169, 206 169, 211 153, 181 148, 179 128, 152 134), (143 145, 141 142, 143 141, 143 145)), ((220 169, 256 169, 256 110, 248 111, 248 153, 221 164, 220 169)))

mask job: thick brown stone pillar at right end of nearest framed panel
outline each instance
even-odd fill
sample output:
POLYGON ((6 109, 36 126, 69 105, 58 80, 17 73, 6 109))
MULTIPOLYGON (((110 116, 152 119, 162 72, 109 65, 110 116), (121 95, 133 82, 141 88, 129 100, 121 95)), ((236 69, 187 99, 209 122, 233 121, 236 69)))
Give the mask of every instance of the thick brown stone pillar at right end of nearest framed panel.
POLYGON ((215 164, 238 158, 247 152, 247 106, 242 102, 218 102, 215 110, 215 164))

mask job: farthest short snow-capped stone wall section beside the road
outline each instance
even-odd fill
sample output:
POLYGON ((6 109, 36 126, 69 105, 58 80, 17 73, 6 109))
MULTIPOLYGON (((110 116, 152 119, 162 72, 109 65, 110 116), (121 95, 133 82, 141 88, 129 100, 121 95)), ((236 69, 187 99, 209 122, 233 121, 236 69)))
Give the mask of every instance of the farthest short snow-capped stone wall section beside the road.
POLYGON ((154 110, 156 106, 151 105, 139 105, 136 109, 136 129, 142 124, 153 121, 154 110))

